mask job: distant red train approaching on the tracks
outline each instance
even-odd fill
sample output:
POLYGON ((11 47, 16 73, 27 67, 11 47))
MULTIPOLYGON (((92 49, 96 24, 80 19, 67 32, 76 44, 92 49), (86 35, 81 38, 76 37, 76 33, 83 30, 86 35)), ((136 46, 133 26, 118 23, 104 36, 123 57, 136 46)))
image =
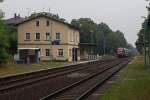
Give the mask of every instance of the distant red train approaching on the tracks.
POLYGON ((125 58, 130 56, 130 50, 126 48, 117 48, 116 55, 118 58, 125 58))

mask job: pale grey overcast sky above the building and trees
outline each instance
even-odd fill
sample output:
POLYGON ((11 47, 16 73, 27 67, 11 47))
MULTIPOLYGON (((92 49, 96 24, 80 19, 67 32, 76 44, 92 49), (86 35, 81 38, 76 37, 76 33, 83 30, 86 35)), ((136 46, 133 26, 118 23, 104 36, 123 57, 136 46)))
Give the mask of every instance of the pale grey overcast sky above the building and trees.
POLYGON ((89 17, 96 23, 105 22, 111 29, 121 30, 127 41, 134 44, 147 11, 145 0, 5 0, 0 9, 5 17, 14 13, 28 16, 32 12, 58 13, 69 22, 73 18, 89 17))

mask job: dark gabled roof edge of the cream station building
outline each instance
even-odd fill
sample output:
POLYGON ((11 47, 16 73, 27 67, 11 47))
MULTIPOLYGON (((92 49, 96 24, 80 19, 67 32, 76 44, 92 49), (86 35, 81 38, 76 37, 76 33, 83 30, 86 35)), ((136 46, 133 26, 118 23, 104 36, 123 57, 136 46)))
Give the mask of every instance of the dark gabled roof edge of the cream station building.
POLYGON ((23 24, 23 23, 25 23, 25 22, 31 21, 31 20, 36 19, 36 18, 39 18, 39 17, 45 17, 45 18, 48 18, 48 19, 51 19, 51 20, 60 22, 60 23, 62 23, 62 24, 65 24, 65 25, 67 25, 67 26, 69 26, 69 27, 71 27, 71 28, 74 28, 74 29, 79 30, 79 28, 77 28, 77 27, 75 27, 75 26, 73 26, 73 25, 71 25, 71 24, 65 22, 63 19, 54 18, 54 17, 52 17, 52 14, 51 14, 51 13, 46 13, 46 12, 34 13, 34 14, 32 14, 31 16, 29 16, 29 17, 25 18, 24 20, 22 20, 21 22, 17 23, 17 25, 19 26, 19 25, 21 25, 21 24, 23 24))

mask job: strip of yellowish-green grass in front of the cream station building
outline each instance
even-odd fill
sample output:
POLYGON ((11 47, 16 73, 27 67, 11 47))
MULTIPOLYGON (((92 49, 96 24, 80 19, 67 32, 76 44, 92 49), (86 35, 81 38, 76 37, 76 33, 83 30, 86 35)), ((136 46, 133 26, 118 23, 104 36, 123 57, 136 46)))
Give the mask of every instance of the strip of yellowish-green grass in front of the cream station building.
POLYGON ((42 69, 51 69, 68 65, 68 62, 42 62, 40 64, 7 64, 0 67, 0 77, 10 76, 14 74, 33 72, 42 69))

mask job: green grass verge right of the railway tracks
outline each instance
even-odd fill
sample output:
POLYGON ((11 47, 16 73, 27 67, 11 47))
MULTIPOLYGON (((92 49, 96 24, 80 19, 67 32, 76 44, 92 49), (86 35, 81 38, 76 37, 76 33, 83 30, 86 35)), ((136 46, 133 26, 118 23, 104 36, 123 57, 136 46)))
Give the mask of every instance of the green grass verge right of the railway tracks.
POLYGON ((150 100, 150 70, 143 59, 137 57, 129 64, 101 100, 150 100))

